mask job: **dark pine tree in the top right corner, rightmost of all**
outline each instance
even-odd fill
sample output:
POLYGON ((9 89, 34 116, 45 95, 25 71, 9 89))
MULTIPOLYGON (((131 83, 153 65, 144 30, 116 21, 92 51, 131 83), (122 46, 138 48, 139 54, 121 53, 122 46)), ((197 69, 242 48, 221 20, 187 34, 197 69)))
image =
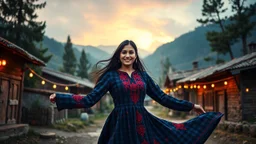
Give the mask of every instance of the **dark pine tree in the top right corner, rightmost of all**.
POLYGON ((246 0, 229 1, 232 4, 232 11, 235 12, 235 14, 230 17, 233 23, 228 26, 228 30, 235 36, 235 39, 242 40, 243 55, 246 55, 248 53, 247 37, 251 35, 251 31, 256 25, 255 22, 250 22, 250 18, 256 14, 256 3, 246 7, 246 0))

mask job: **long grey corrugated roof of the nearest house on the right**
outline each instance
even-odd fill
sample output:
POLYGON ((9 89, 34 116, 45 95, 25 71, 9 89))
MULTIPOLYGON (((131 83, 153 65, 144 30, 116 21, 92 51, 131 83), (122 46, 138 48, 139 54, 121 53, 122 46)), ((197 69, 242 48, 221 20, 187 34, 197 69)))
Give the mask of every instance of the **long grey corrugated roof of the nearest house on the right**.
POLYGON ((208 77, 217 72, 222 72, 222 71, 230 70, 230 69, 234 69, 234 68, 252 66, 252 65, 256 64, 255 59, 256 59, 256 52, 250 53, 245 56, 235 58, 229 62, 226 62, 225 64, 220 64, 220 65, 215 65, 215 66, 209 67, 201 72, 198 72, 198 73, 188 76, 184 79, 181 79, 181 80, 177 81, 177 83, 192 82, 192 81, 196 81, 199 79, 203 79, 203 78, 208 77))

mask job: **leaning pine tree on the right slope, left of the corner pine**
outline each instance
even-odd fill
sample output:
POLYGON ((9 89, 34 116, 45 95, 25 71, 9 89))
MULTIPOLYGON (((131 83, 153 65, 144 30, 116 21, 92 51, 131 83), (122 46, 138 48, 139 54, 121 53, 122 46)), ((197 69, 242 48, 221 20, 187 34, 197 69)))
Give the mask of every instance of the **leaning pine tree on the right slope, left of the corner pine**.
POLYGON ((222 0, 204 0, 202 16, 205 19, 197 19, 197 21, 203 25, 205 24, 217 24, 220 26, 221 31, 207 32, 206 38, 210 42, 212 51, 216 51, 219 54, 229 53, 230 58, 233 59, 234 55, 231 50, 232 37, 227 32, 224 25, 224 21, 227 17, 221 18, 221 14, 225 13, 227 8, 223 8, 224 2, 222 0))

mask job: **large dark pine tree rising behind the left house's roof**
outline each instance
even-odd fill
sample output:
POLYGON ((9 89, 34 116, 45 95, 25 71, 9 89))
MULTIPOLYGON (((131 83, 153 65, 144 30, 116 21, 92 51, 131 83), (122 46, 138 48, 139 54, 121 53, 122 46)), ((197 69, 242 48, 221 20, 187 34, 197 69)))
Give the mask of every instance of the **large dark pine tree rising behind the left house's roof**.
MULTIPOLYGON (((45 22, 36 21, 36 10, 45 6, 46 2, 38 3, 38 0, 0 0, 0 35, 47 63, 52 55, 45 56, 48 49, 39 50, 36 46, 43 40, 46 27, 45 22)), ((30 67, 41 73, 39 67, 30 67)), ((29 78, 28 73, 25 73, 24 86, 35 87, 38 80, 29 78)))

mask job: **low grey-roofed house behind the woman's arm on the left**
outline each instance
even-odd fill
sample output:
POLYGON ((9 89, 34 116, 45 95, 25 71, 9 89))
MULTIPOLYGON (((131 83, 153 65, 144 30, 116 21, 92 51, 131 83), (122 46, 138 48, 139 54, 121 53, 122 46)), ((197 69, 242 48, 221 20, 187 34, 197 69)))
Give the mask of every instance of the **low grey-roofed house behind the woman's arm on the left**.
MULTIPOLYGON (((46 67, 42 68, 42 74, 39 78, 41 78, 41 81, 37 84, 37 88, 24 88, 23 122, 33 125, 49 125, 59 120, 80 117, 82 112, 89 112, 90 109, 65 109, 58 111, 56 105, 50 103, 49 95, 55 92, 86 95, 93 90, 94 83, 88 79, 46 67)), ((108 103, 109 101, 110 97, 106 94, 92 107, 92 110, 102 109, 103 103, 108 103)))

